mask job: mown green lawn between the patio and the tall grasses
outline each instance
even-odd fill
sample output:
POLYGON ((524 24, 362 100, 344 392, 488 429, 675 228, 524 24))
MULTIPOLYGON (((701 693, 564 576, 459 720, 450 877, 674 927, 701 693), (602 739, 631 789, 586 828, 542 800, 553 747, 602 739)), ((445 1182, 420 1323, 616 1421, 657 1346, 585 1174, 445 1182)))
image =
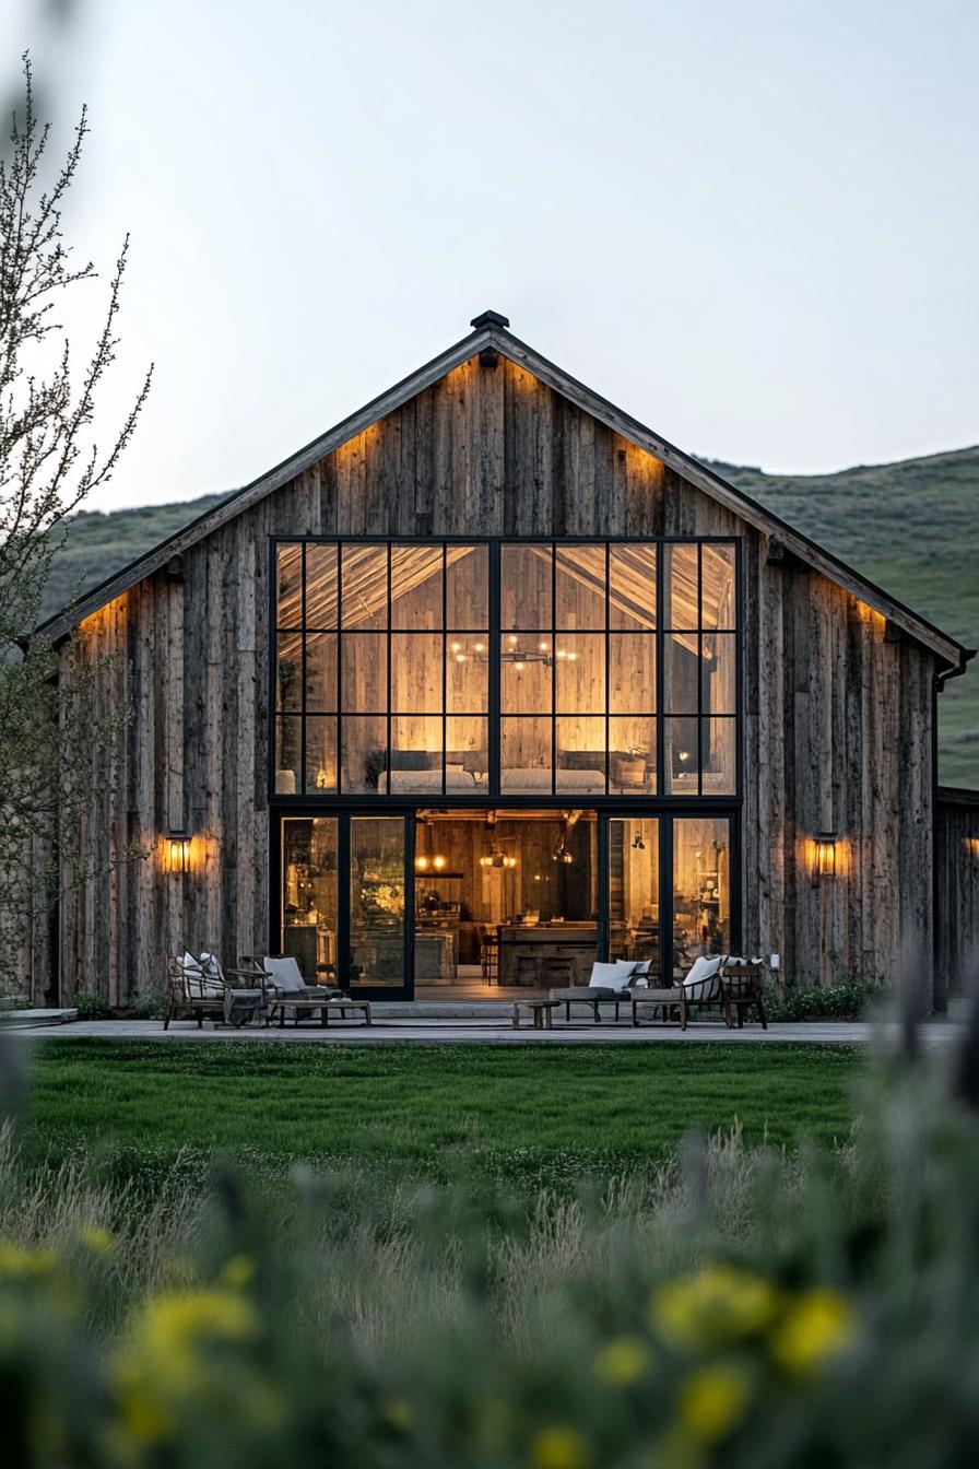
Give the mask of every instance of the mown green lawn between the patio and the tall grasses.
POLYGON ((261 1046, 46 1042, 34 1156, 125 1171, 178 1155, 311 1159, 395 1175, 561 1181, 634 1169, 693 1127, 832 1144, 863 1053, 847 1046, 261 1046))

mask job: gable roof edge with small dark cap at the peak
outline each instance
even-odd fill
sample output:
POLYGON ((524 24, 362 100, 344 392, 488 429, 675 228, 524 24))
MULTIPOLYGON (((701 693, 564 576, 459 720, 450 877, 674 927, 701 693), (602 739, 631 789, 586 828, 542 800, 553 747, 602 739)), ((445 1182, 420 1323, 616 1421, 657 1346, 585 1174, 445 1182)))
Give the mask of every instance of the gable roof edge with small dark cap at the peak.
POLYGON ((509 331, 509 322, 505 316, 501 316, 498 311, 484 311, 481 316, 474 317, 471 325, 473 331, 468 336, 464 336, 455 345, 433 357, 432 361, 418 367, 408 378, 402 378, 393 388, 373 398, 357 413, 352 413, 348 419, 343 419, 335 427, 313 439, 304 448, 289 455, 289 458, 282 460, 274 469, 267 470, 267 473, 254 479, 250 485, 230 494, 219 505, 191 520, 189 524, 167 536, 166 541, 161 541, 151 551, 137 557, 129 566, 106 577, 104 582, 87 592, 76 605, 65 608, 41 623, 37 632, 54 639, 65 636, 72 626, 76 626, 91 613, 98 611, 98 608, 113 601, 113 598, 128 592, 137 582, 159 571, 170 557, 181 555, 189 546, 226 524, 226 521, 248 510, 260 499, 264 499, 266 495, 272 495, 276 489, 280 489, 324 455, 332 454, 355 435, 363 433, 371 423, 393 413, 417 394, 424 392, 426 388, 433 386, 440 378, 452 372, 454 367, 459 367, 486 348, 495 348, 509 361, 515 363, 515 366, 533 373, 545 386, 552 388, 561 397, 575 404, 583 413, 592 414, 592 417, 621 435, 621 438, 628 439, 677 470, 688 483, 731 510, 747 524, 779 541, 785 551, 797 557, 798 561, 820 571, 831 582, 835 582, 866 602, 882 617, 887 617, 903 632, 909 633, 909 636, 935 652, 950 668, 963 671, 967 660, 975 657, 975 649, 967 649, 956 642, 954 638, 941 632, 939 627, 935 627, 933 623, 911 611, 910 607, 898 602, 897 598, 847 566, 845 561, 841 561, 809 536, 796 530, 756 499, 751 499, 744 491, 729 485, 713 470, 707 469, 706 464, 702 464, 690 454, 684 454, 683 450, 669 444, 668 439, 653 433, 638 419, 616 408, 615 404, 593 392, 592 388, 587 388, 564 372, 564 369, 542 357, 527 342, 521 342, 509 331))

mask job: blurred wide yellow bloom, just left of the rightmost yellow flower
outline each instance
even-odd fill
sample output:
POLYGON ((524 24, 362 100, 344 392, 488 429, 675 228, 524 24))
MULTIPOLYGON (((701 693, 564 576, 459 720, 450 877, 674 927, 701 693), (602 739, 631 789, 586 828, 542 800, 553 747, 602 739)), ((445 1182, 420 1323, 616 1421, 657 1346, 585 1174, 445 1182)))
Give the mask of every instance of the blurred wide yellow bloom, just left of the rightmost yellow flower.
POLYGON ((710 1265, 660 1285, 650 1300, 650 1316, 672 1346, 705 1349, 762 1331, 776 1307, 778 1293, 762 1275, 710 1265))

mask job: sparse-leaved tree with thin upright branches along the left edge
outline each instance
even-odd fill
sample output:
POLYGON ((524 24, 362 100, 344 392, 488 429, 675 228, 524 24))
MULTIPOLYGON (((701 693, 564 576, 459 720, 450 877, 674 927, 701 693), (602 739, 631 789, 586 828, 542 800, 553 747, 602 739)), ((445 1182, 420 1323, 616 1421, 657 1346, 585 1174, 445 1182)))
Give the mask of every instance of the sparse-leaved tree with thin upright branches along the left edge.
MULTIPOLYGON (((129 718, 128 708, 101 707, 104 660, 76 635, 56 646, 34 629, 66 517, 112 479, 153 373, 122 425, 100 441, 97 403, 119 344, 129 241, 109 281, 101 328, 76 358, 59 316, 97 273, 91 261, 73 261, 62 213, 88 119, 82 109, 46 187, 50 123, 35 115, 28 56, 23 78, 0 159, 0 964, 6 977, 21 978, 43 950, 54 899, 92 876, 70 833, 107 793, 94 786, 92 755, 129 718)), ((134 855, 116 851, 106 861, 134 855)))

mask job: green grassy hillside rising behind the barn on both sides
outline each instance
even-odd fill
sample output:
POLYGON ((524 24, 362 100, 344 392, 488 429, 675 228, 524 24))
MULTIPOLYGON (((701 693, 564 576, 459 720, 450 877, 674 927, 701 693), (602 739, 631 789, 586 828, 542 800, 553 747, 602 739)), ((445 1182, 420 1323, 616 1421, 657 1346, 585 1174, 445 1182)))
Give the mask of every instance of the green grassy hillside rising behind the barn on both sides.
MULTIPOLYGON (((979 447, 838 474, 765 474, 705 460, 970 648, 979 646, 979 447)), ((48 610, 92 586, 222 497, 84 513, 69 523, 48 610)), ((979 664, 979 660, 976 660, 979 664)), ((941 698, 941 780, 979 787, 979 671, 941 698)))

